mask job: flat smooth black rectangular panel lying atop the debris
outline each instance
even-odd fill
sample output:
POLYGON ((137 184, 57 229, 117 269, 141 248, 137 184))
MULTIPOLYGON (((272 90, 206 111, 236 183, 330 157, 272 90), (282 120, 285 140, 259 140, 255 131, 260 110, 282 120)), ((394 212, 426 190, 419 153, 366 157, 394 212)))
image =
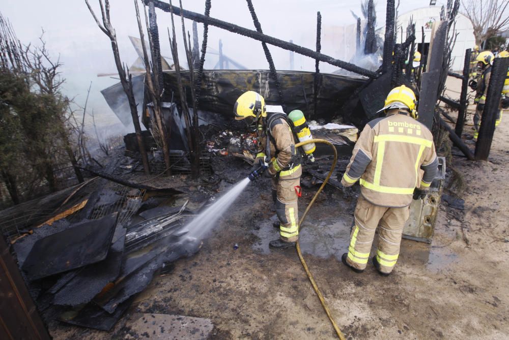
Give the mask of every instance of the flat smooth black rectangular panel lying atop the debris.
POLYGON ((22 269, 29 280, 104 260, 117 224, 117 213, 76 224, 38 240, 22 269))

